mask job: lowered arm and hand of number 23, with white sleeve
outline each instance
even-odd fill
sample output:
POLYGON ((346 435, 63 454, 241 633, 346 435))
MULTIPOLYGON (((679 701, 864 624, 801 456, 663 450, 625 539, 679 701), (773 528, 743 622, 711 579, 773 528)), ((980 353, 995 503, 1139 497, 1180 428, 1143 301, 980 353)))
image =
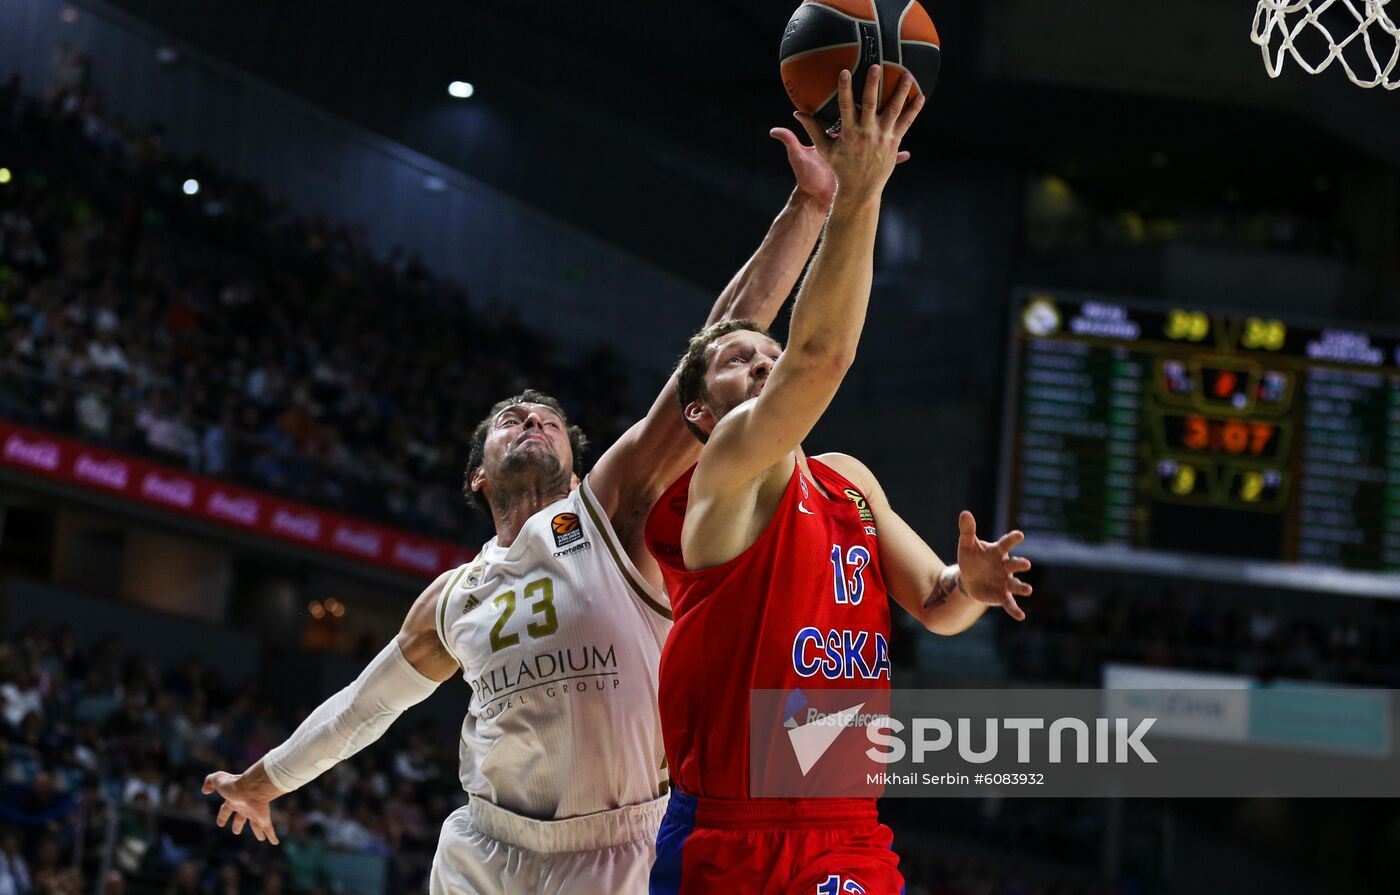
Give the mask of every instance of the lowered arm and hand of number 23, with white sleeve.
POLYGON ((204 793, 224 804, 218 825, 234 821, 234 833, 252 826, 259 842, 277 845, 272 801, 305 786, 384 735, 403 712, 427 699, 456 671, 456 660, 438 640, 434 613, 448 574, 434 581, 409 609, 399 636, 365 669, 315 712, 286 742, 241 775, 223 770, 204 777, 204 793))

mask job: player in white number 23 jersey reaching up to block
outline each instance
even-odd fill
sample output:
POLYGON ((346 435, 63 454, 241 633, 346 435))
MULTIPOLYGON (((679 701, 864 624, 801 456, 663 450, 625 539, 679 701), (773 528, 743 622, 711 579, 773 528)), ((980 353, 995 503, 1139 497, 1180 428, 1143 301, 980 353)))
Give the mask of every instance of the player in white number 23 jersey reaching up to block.
MULTIPOLYGON (((826 220, 834 178, 787 130, 797 189, 710 322, 767 324, 826 220)), ((374 742, 407 707, 461 674, 465 808, 442 825, 434 895, 647 891, 666 772, 657 667, 671 626, 643 542, 651 504, 699 444, 669 381, 647 417, 582 476, 582 434, 556 401, 525 392, 477 426, 468 497, 496 536, 444 573, 398 637, 344 691, 242 775, 211 773, 218 825, 277 842, 270 803, 374 742)))

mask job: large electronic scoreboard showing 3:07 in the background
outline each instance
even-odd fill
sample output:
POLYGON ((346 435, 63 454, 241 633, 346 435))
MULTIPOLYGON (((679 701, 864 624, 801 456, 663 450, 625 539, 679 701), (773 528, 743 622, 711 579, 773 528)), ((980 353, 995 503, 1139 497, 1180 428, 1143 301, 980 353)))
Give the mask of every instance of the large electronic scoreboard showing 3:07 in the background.
POLYGON ((1026 553, 1400 597, 1400 338, 1029 293, 1001 510, 1026 553))

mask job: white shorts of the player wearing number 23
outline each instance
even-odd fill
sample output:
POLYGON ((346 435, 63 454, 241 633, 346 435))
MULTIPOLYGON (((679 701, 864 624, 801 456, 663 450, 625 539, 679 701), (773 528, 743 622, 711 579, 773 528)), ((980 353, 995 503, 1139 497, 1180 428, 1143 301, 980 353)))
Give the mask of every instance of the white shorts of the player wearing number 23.
POLYGON ((533 821, 484 798, 448 815, 431 895, 647 895, 666 800, 533 821))

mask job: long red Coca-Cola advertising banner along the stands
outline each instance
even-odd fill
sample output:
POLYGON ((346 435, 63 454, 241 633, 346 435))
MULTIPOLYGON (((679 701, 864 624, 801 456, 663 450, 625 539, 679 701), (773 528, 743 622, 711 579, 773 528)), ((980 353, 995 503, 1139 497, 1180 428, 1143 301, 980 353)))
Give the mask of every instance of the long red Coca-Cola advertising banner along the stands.
POLYGON ((0 420, 0 466, 314 550, 433 577, 472 553, 349 515, 0 420))

